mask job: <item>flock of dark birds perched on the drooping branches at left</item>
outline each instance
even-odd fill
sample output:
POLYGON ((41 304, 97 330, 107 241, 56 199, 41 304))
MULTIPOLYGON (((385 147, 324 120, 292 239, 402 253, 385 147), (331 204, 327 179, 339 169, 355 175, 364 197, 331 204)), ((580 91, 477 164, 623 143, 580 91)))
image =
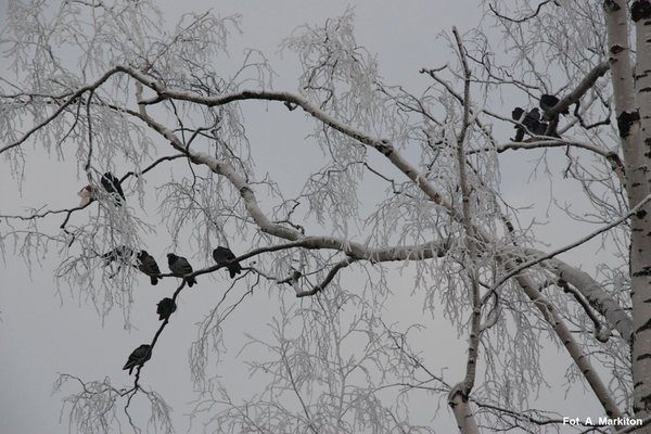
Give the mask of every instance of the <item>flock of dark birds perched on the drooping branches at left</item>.
MULTIPOLYGON (((125 203, 126 197, 120 186, 120 180, 117 179, 113 174, 110 171, 105 173, 100 182, 116 206, 122 206, 125 203)), ((81 196, 80 206, 87 205, 92 201, 92 199, 94 199, 92 188, 90 186, 85 187, 79 192, 79 196, 81 196)), ((154 259, 154 257, 146 251, 135 253, 132 248, 127 247, 126 245, 120 245, 113 248, 111 252, 104 253, 101 255, 101 257, 104 259, 104 266, 108 266, 113 261, 132 265, 142 273, 150 277, 152 285, 157 284, 158 280, 163 278, 161 276, 161 268, 158 268, 156 259, 154 259), (133 257, 136 258, 136 264, 132 263, 133 257)), ((235 255, 228 247, 218 246, 215 248, 213 251, 213 258, 218 265, 226 264, 231 279, 234 278, 235 275, 240 275, 242 272, 242 266, 239 261, 233 261, 233 259, 235 259, 235 255)), ((184 279, 184 281, 188 283, 188 286, 192 288, 196 283, 196 279, 194 277, 186 277, 193 271, 193 268, 187 258, 177 256, 174 253, 168 253, 167 266, 169 267, 171 275, 184 279)), ((177 305, 174 303, 173 298, 163 298, 156 305, 158 320, 167 320, 169 316, 176 311, 176 309, 177 305)), ((129 358, 123 369, 128 369, 130 375, 133 372, 133 368, 144 365, 144 362, 151 357, 151 345, 142 344, 138 348, 133 349, 133 352, 129 355, 129 358)))

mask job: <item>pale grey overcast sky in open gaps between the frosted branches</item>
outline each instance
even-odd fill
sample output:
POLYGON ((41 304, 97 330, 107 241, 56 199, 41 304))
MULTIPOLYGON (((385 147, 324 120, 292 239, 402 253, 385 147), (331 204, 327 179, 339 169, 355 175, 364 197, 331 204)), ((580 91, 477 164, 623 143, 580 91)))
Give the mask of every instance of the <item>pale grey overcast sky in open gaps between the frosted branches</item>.
MULTIPOLYGON (((418 74, 421 67, 439 66, 450 60, 446 42, 437 38, 437 35, 442 30, 449 31, 452 25, 463 34, 474 28, 481 20, 474 1, 166 0, 157 3, 166 12, 167 24, 170 26, 175 24, 176 17, 186 11, 201 12, 213 8, 221 16, 242 14, 243 34, 233 35, 231 39, 233 58, 239 59, 244 47, 261 50, 280 75, 275 81, 276 89, 292 91, 296 88, 295 77, 299 72, 293 56, 279 58, 277 53, 279 43, 295 27, 304 23, 320 24, 326 17, 341 15, 348 5, 355 8, 357 41, 370 52, 378 53, 381 75, 385 81, 416 89, 422 89, 427 84, 427 80, 418 74)), ((0 0, 0 20, 3 20, 8 0, 0 0)), ((1 24, 4 25, 3 21, 1 24)), ((509 105, 505 111, 510 113, 511 108, 509 105)), ((254 149, 269 136, 278 137, 286 131, 283 128, 291 128, 293 125, 292 119, 279 124, 276 117, 266 115, 264 110, 258 110, 257 114, 252 113, 252 116, 259 116, 247 118, 246 128, 254 149)), ((503 140, 507 139, 508 133, 511 131, 505 132, 503 140)), ((291 138, 295 136, 295 139, 299 140, 305 135, 305 130, 292 131, 288 135, 292 135, 291 138)), ((318 152, 309 148, 305 155, 309 155, 312 151, 319 157, 318 152)), ((276 163, 282 166, 283 163, 277 152, 271 151, 268 157, 278 158, 276 163)), ((505 155, 502 158, 503 162, 515 157, 505 155)), ((50 163, 50 159, 44 157, 35 158, 28 167, 28 181, 23 191, 24 196, 20 197, 15 192, 15 184, 10 182, 7 167, 4 163, 0 163, 2 181, 0 196, 9 197, 9 201, 5 199, 2 201, 2 213, 17 214, 24 210, 24 206, 44 204, 50 204, 53 208, 75 205, 78 202, 76 192, 85 184, 84 180, 76 179, 75 176, 59 176, 63 165, 50 163), (55 177, 56 182, 42 182, 48 175, 55 177)), ((547 184, 535 183, 527 186, 526 191, 521 190, 520 186, 526 181, 526 168, 520 165, 515 167, 518 168, 510 169, 507 175, 510 178, 506 177, 505 186, 505 193, 512 204, 531 203, 532 197, 535 197, 536 189, 547 191, 547 184), (515 188, 509 186, 509 179, 514 179, 512 186, 516 186, 515 188)), ((292 171, 288 170, 286 174, 291 177, 292 171)), ((573 192, 576 191, 573 190, 574 186, 565 181, 559 181, 557 188, 566 191, 567 197, 572 197, 573 192)), ((546 219, 544 214, 539 215, 539 218, 546 219)), ((59 225, 60 218, 52 221, 53 225, 59 225)), ((549 234, 553 247, 563 245, 567 237, 585 233, 585 231, 576 232, 571 222, 562 228, 554 226, 541 231, 539 233, 549 234)), ((53 279, 55 255, 55 251, 44 253, 42 266, 35 265, 29 271, 22 259, 14 257, 11 246, 4 252, 5 263, 0 266, 3 286, 0 299, 0 434, 67 433, 67 412, 60 413, 61 399, 65 394, 51 394, 52 383, 58 378, 58 373, 67 372, 86 380, 102 380, 104 376, 110 376, 115 386, 128 386, 131 378, 122 371, 122 366, 132 348, 150 342, 158 326, 151 319, 154 316, 155 304, 162 298, 161 292, 164 290, 161 284, 149 285, 144 279, 140 280, 133 305, 133 322, 137 330, 125 331, 119 312, 107 317, 102 326, 93 307, 84 301, 73 299, 66 288, 62 288, 64 294, 62 303, 55 295, 56 286, 53 279), (141 316, 143 319, 140 321, 141 316), (63 418, 61 424, 60 417, 63 418)), ((573 255, 577 258, 582 257, 580 253, 573 253, 573 255)), ((166 270, 163 252, 157 252, 156 258, 161 268, 166 270)), ((204 265, 209 264, 195 264, 195 268, 204 265)), ((200 280, 208 279, 206 276, 200 277, 200 280)), ((403 285, 405 292, 410 291, 411 281, 407 276, 396 275, 394 279, 396 291, 401 290, 403 285)), ((219 283, 224 280, 213 279, 213 281, 219 283)), ((165 296, 170 295, 169 288, 170 285, 167 285, 165 296)), ((141 379, 143 384, 156 390, 173 406, 176 430, 181 433, 188 430, 188 418, 184 414, 190 408, 187 406, 188 403, 193 398, 187 368, 188 346, 196 334, 194 323, 205 312, 204 304, 215 299, 214 294, 209 294, 206 290, 200 294, 201 297, 189 295, 189 293, 181 294, 179 314, 173 317, 164 339, 156 346, 154 358, 143 369, 141 379)), ((250 303, 248 309, 256 312, 255 318, 260 323, 273 314, 273 305, 268 302, 265 296, 256 296, 250 303)), ((398 307, 392 315, 399 318, 400 315, 412 316, 413 312, 400 311, 398 307)), ((238 329, 242 324, 251 326, 250 318, 242 316, 233 319, 229 324, 232 329, 230 344, 233 350, 238 349, 238 340, 242 337, 242 332, 238 333, 238 329)), ((437 354, 439 359, 449 357, 450 354, 464 357, 464 342, 457 342, 455 331, 446 323, 437 327, 439 332, 432 340, 430 349, 437 354), (442 347, 446 350, 441 352, 442 347)), ((553 360, 558 356, 550 354, 549 357, 553 360)), ((566 360, 566 356, 561 357, 566 360)), ((448 366, 454 370, 455 363, 454 359, 443 359, 434 365, 448 366)), ((241 370, 241 367, 233 367, 233 372, 238 370, 241 370)), ((230 375, 231 372, 226 376, 230 375)), ((460 380, 459 375, 449 375, 449 378, 460 380)), ((551 379, 550 383, 560 384, 559 379, 560 376, 556 380, 551 379)), ((69 388, 67 392, 76 392, 76 388, 69 388)), ((562 396, 562 394, 558 395, 562 396)), ((558 395, 554 398, 556 409, 561 410, 563 405, 558 403, 558 395)), ((599 416, 599 407, 595 405, 596 403, 591 403, 595 401, 591 395, 588 396, 585 403, 586 413, 569 416, 599 416)), ((569 399, 572 400, 572 396, 569 399)), ((545 394, 541 401, 546 401, 545 394)), ((435 406, 436 403, 433 400, 432 405, 435 406)), ((450 430, 455 426, 454 419, 447 408, 442 410, 435 425, 441 427, 441 433, 452 432, 450 430)), ((194 426, 192 432, 199 431, 197 429, 200 426, 194 426)), ((123 430, 129 432, 127 426, 123 426, 123 430)))

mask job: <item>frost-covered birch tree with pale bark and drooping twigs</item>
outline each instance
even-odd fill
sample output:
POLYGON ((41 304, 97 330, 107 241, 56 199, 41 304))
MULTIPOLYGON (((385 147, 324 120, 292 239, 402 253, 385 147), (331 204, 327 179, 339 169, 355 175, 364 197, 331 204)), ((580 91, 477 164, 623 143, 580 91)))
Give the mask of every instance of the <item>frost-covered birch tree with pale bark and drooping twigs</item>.
POLYGON ((282 50, 301 71, 290 90, 275 86, 264 53, 229 56, 239 17, 168 23, 145 0, 10 2, 2 170, 20 189, 44 154, 77 174, 81 202, 72 192, 60 207, 3 206, 3 255, 36 267, 55 251, 59 291, 100 318, 119 311, 127 329, 136 291, 156 283, 170 298, 156 332, 139 333, 140 353, 120 349, 133 378, 58 379, 77 391, 63 398, 72 427, 173 432, 156 379, 151 388, 143 378, 187 315, 169 306, 219 282, 195 312, 196 337, 175 343, 189 348, 192 417, 208 432, 430 433, 450 417, 464 434, 651 432, 651 3, 602 5, 478 4, 485 28, 444 29, 448 59, 423 53, 405 86, 382 78, 347 10, 288 35, 282 50), (413 91, 417 77, 427 81, 413 91), (253 140, 252 105, 310 132, 253 140), (269 167, 269 149, 310 157, 284 151, 285 166, 269 167), (579 222, 582 233, 550 247, 511 203, 514 161, 529 168, 520 190, 549 183, 532 201, 562 212, 550 225, 579 222), (278 180, 288 168, 291 184, 278 180), (560 180, 582 191, 571 205, 560 180), (607 260, 560 257, 590 240, 607 260), (216 263, 217 246, 234 258, 216 263), (168 272, 168 252, 193 268, 168 272), (235 263, 242 272, 229 276, 235 263), (392 285, 396 272, 409 283, 392 285), (277 309, 270 339, 227 345, 230 318, 261 296, 277 309), (388 321, 398 302, 422 320, 388 321), (442 320, 465 343, 460 376, 426 348, 442 320), (216 374, 240 349, 255 355, 258 388, 246 396, 216 374), (593 426, 536 404, 557 352, 566 390, 600 405, 593 426))

